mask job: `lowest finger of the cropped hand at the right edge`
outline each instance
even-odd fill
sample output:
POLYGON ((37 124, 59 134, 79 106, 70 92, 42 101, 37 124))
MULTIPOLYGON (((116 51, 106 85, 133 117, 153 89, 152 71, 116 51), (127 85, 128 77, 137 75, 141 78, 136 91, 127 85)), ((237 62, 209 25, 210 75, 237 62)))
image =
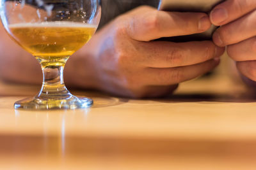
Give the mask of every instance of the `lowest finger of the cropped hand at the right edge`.
POLYGON ((237 69, 250 80, 256 81, 256 61, 237 62, 237 69))

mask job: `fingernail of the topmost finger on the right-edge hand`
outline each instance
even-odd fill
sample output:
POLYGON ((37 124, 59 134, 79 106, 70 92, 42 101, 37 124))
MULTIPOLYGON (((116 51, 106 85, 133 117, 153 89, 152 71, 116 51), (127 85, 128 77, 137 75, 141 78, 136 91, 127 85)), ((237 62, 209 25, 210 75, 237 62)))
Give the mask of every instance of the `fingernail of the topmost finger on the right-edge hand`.
POLYGON ((211 12, 211 21, 214 25, 221 25, 222 22, 227 20, 228 12, 224 8, 217 8, 211 12))

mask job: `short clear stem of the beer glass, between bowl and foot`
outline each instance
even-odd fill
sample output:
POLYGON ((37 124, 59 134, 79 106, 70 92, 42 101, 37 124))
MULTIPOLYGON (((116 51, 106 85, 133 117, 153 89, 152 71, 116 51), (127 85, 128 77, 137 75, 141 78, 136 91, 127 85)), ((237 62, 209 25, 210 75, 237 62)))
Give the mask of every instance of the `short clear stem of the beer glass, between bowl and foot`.
POLYGON ((63 70, 67 58, 58 61, 43 60, 41 57, 38 61, 43 71, 43 84, 38 97, 42 99, 67 99, 72 94, 68 92, 63 80, 63 70))

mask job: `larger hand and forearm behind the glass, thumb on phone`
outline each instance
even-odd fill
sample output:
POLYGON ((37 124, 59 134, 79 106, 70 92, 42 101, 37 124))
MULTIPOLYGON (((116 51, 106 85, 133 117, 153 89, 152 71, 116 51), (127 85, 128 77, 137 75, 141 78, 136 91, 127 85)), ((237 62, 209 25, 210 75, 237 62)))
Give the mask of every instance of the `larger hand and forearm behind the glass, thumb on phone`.
MULTIPOLYGON (((157 11, 141 6, 116 18, 68 60, 65 81, 70 87, 97 89, 117 96, 160 97, 179 83, 218 66, 224 48, 212 41, 152 41, 167 36, 204 32, 211 26, 205 13, 157 11)), ((0 76, 4 80, 41 83, 36 60, 0 36, 0 76), (12 46, 12 48, 10 48, 12 46), (12 50, 11 50, 12 49, 12 50)))

